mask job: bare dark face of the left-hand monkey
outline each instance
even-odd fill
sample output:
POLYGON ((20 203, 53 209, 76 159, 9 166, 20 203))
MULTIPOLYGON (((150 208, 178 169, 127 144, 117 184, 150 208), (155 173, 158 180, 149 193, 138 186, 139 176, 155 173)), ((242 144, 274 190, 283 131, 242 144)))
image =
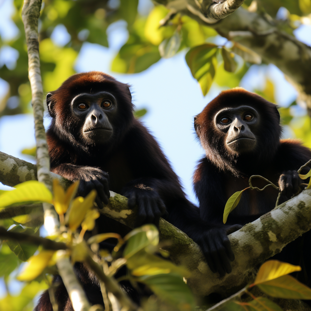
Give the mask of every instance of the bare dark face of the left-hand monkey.
POLYGON ((113 134, 112 119, 117 100, 109 92, 81 93, 71 101, 72 113, 81 126, 81 136, 86 143, 104 144, 113 134))

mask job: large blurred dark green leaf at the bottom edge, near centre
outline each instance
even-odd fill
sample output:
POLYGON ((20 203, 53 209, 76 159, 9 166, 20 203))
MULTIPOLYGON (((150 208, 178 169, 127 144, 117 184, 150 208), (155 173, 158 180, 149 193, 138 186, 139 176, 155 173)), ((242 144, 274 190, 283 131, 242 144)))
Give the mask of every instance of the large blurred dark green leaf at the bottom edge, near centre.
POLYGON ((138 281, 148 285, 161 300, 172 304, 179 310, 194 309, 193 294, 181 276, 174 273, 158 274, 140 277, 138 281))

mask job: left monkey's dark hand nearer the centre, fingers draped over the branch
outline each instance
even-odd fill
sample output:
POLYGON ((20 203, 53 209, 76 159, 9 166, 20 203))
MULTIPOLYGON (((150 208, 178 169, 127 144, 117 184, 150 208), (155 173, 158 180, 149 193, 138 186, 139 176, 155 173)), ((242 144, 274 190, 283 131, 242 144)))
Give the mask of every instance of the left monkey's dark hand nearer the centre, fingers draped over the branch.
POLYGON ((153 188, 138 184, 128 188, 123 195, 128 198, 130 208, 138 206, 137 226, 150 223, 158 226, 160 217, 167 213, 159 193, 153 188))

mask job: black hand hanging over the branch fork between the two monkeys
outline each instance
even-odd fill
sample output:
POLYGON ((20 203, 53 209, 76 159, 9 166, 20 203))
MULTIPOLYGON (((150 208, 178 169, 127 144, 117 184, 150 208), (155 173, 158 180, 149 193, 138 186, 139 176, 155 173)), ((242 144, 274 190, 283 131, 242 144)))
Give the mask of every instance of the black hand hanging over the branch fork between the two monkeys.
POLYGON ((203 232, 201 243, 207 264, 212 272, 218 272, 220 277, 232 271, 231 261, 234 253, 227 235, 242 228, 242 225, 221 225, 203 232))

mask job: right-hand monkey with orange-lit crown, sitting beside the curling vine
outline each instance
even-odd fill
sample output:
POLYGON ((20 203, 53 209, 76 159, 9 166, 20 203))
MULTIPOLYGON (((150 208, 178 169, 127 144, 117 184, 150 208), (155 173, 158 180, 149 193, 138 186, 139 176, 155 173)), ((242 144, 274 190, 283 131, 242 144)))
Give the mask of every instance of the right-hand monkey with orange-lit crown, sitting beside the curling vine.
MULTIPOLYGON (((210 228, 203 252, 211 270, 222 276, 231 271, 232 258, 227 253, 230 246, 224 245, 219 234, 224 234, 227 224, 245 225, 271 211, 278 191, 272 187, 244 191, 224 225, 229 197, 247 188, 251 175, 261 175, 279 184, 279 203, 287 201, 303 182, 296 170, 311 159, 311 151, 296 140, 280 140, 277 106, 243 88, 222 91, 194 118, 194 128, 206 152, 193 178, 201 218, 210 228)), ((252 184, 262 188, 267 183, 257 178, 252 184)), ((288 244, 275 258, 298 265, 298 244, 297 240, 288 244)))

